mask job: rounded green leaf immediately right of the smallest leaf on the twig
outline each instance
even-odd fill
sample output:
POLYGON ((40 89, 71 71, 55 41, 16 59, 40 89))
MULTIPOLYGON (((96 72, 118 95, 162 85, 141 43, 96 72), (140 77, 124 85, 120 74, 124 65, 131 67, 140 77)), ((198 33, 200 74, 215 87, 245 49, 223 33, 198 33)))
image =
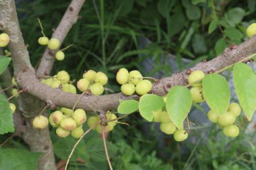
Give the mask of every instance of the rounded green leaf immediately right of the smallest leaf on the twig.
POLYGON ((164 99, 158 95, 146 94, 139 99, 139 113, 141 116, 152 122, 154 111, 160 110, 164 106, 164 99))

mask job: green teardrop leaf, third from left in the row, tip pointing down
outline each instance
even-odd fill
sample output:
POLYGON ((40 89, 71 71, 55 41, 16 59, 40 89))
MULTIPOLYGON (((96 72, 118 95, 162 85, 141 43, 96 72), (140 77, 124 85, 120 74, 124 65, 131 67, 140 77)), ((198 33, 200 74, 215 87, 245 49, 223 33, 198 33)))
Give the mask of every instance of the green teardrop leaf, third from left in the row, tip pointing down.
POLYGON ((191 93, 187 87, 175 86, 170 89, 166 99, 166 110, 177 128, 183 128, 183 122, 192 105, 191 93))

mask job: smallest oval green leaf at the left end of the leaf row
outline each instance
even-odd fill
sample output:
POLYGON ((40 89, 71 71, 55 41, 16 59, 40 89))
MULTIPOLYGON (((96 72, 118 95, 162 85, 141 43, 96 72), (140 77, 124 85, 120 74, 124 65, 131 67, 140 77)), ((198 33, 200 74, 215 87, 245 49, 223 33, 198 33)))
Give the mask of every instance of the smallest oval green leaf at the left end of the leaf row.
POLYGON ((117 108, 119 114, 131 114, 139 109, 139 102, 134 99, 123 101, 117 108))

